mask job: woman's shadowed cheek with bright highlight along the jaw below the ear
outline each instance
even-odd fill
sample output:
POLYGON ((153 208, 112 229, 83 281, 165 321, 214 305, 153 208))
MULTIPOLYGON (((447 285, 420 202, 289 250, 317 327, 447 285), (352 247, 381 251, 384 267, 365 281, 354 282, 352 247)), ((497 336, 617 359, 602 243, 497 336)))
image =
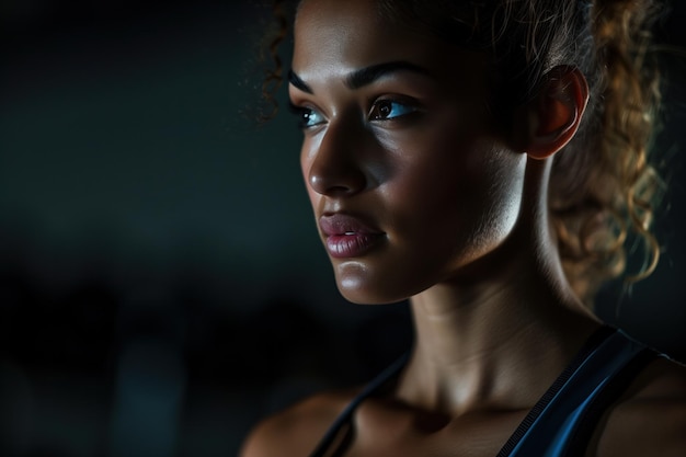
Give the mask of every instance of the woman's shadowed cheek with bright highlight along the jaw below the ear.
MULTIPOLYGON (((519 214, 526 157, 472 144, 404 164, 389 183, 402 238, 420 238, 427 256, 467 262, 498 245, 519 214), (433 156, 433 157, 432 157, 433 156)), ((436 146, 436 145, 434 145, 436 146)))

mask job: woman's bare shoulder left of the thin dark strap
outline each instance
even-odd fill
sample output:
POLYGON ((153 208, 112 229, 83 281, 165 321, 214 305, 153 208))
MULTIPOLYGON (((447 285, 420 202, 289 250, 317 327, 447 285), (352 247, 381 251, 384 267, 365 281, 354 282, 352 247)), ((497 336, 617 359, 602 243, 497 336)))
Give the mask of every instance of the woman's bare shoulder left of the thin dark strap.
POLYGON ((260 422, 243 443, 241 457, 309 455, 356 390, 322 392, 260 422))

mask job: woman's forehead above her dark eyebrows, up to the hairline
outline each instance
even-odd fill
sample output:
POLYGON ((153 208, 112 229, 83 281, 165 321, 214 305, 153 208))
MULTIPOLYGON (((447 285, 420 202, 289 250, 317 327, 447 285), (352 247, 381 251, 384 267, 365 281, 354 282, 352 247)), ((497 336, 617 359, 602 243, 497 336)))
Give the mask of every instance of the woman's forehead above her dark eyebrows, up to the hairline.
POLYGON ((382 14, 376 0, 304 0, 296 15, 293 68, 304 79, 385 61, 410 61, 456 77, 483 68, 476 53, 382 14))

